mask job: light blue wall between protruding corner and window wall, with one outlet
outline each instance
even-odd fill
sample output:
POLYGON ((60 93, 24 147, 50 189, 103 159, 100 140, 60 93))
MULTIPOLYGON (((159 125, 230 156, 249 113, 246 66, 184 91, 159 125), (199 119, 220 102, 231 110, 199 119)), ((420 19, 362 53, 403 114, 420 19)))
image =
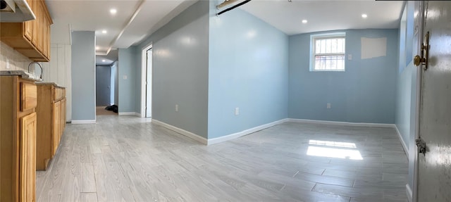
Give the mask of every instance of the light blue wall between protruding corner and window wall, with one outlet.
POLYGON ((288 36, 241 9, 216 17, 215 6, 211 1, 208 138, 288 118, 288 36))

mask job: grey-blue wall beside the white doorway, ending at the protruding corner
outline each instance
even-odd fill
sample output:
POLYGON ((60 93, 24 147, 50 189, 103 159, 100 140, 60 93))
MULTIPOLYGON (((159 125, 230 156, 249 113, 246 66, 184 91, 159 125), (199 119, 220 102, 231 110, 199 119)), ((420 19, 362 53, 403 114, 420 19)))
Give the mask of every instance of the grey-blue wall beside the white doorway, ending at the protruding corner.
MULTIPOLYGON (((198 1, 137 46, 153 44, 152 118, 207 137, 209 1, 198 1), (179 111, 175 112, 175 104, 179 111)), ((119 59, 121 61, 121 58, 119 59)), ((119 69, 122 66, 119 65, 119 69)), ((141 90, 141 70, 136 89, 141 90)), ((135 97, 140 111, 139 95, 135 97)))

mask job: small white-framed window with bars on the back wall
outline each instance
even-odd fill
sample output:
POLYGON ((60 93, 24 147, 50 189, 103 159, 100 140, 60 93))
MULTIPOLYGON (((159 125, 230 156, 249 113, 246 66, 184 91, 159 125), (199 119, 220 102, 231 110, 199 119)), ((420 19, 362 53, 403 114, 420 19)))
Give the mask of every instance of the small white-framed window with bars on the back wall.
POLYGON ((345 33, 311 35, 311 71, 345 71, 345 33))

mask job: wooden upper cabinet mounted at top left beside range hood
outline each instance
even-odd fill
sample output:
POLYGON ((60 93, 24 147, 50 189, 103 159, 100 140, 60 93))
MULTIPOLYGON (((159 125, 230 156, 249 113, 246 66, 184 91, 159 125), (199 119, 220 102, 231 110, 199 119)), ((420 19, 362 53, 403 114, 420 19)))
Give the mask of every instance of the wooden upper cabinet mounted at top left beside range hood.
POLYGON ((0 40, 32 61, 50 61, 50 25, 53 24, 44 0, 27 0, 36 20, 0 23, 0 40))

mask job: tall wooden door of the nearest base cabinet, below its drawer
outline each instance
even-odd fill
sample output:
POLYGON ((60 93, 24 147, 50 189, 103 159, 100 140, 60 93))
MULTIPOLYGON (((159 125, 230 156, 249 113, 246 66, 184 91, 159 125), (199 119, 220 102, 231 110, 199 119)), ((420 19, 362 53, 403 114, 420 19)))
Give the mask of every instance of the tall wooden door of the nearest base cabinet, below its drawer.
POLYGON ((36 113, 20 118, 19 201, 35 201, 36 113))

